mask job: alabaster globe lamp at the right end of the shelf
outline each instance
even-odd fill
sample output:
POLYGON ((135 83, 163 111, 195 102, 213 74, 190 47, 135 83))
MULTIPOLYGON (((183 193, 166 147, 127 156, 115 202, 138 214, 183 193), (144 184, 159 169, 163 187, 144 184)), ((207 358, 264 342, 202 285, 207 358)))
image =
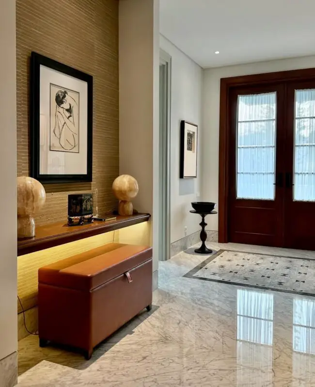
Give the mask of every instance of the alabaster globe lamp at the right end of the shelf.
POLYGON ((121 175, 117 177, 113 184, 114 195, 119 199, 119 215, 132 215, 133 205, 131 199, 135 198, 139 192, 137 180, 130 175, 121 175))

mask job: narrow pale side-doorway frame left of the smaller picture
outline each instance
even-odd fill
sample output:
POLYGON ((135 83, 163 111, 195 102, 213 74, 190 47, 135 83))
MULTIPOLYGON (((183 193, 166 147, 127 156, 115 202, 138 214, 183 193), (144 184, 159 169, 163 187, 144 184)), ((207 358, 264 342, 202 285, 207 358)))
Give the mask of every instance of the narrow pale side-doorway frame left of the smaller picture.
MULTIPOLYGON (((159 260, 171 258, 171 219, 170 219, 170 197, 171 197, 171 76, 172 57, 160 49, 159 65, 162 66, 160 72, 159 85, 163 90, 162 103, 160 109, 159 125, 159 260), (162 84, 161 82, 162 75, 162 84)), ((160 96, 161 98, 161 96, 160 96)))

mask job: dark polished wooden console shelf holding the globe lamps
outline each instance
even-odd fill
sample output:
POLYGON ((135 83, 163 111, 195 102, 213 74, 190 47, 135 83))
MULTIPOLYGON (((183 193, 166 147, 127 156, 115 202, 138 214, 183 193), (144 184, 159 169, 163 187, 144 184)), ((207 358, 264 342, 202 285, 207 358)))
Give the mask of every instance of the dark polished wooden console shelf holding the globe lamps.
POLYGON ((36 235, 17 241, 17 256, 44 250, 49 247, 59 246, 63 243, 78 241, 79 239, 93 237, 94 235, 118 230, 127 226, 147 222, 150 214, 138 213, 130 216, 116 215, 117 219, 109 222, 97 222, 84 226, 67 226, 65 222, 52 223, 36 227, 36 235))

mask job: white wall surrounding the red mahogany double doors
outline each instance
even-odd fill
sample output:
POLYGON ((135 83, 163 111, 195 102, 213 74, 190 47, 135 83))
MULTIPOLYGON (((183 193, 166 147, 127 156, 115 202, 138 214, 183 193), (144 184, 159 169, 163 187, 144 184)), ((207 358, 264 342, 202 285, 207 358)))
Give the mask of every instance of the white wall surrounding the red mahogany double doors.
MULTIPOLYGON (((219 113, 221 78, 273 71, 315 67, 315 56, 225 66, 204 70, 203 94, 203 187, 205 201, 218 203, 219 192, 219 113)), ((218 230, 218 216, 207 217, 209 230, 218 230)))

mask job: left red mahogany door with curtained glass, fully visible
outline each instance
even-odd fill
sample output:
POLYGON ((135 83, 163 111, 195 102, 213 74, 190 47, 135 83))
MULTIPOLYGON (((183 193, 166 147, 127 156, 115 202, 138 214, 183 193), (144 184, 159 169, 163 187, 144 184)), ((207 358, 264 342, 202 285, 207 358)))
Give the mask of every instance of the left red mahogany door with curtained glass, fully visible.
POLYGON ((230 242, 284 245, 284 92, 284 84, 233 90, 230 242))

